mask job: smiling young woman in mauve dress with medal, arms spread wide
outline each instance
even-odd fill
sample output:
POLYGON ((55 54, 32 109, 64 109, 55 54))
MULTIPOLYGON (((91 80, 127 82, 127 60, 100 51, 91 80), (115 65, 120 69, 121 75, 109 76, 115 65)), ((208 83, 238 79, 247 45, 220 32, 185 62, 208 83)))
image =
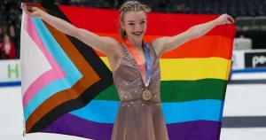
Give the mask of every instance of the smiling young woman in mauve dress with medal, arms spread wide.
POLYGON ((74 27, 37 7, 22 9, 29 17, 38 17, 66 35, 106 55, 113 71, 113 81, 121 105, 113 126, 113 140, 168 140, 168 131, 160 106, 160 56, 183 43, 207 34, 213 27, 232 24, 231 16, 189 28, 182 34, 161 37, 144 43, 147 28, 145 5, 129 1, 121 5, 120 34, 124 43, 74 27))

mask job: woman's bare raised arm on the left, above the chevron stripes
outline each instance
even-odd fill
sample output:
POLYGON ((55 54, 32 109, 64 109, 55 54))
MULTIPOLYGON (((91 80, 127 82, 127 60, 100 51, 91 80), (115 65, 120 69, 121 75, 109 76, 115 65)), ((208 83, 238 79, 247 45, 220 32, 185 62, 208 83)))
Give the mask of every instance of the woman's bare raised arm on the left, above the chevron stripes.
POLYGON ((100 51, 109 58, 113 58, 120 52, 120 43, 115 39, 107 36, 96 35, 86 29, 74 27, 72 24, 66 22, 63 19, 54 17, 46 12, 43 12, 37 7, 31 7, 31 11, 27 11, 27 6, 23 4, 22 9, 30 17, 38 17, 45 20, 52 27, 55 27, 60 32, 71 35, 77 38, 78 40, 86 43, 91 48, 100 51))

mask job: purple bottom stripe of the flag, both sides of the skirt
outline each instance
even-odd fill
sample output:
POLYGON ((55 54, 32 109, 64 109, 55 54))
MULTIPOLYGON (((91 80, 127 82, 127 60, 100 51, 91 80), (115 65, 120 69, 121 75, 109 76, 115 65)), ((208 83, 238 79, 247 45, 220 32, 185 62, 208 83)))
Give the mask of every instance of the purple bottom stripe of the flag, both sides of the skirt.
MULTIPOLYGON (((69 136, 80 136, 97 140, 110 140, 113 124, 83 120, 72 114, 66 114, 45 128, 43 132, 69 136)), ((221 122, 190 121, 168 124, 170 140, 219 140, 221 122)))

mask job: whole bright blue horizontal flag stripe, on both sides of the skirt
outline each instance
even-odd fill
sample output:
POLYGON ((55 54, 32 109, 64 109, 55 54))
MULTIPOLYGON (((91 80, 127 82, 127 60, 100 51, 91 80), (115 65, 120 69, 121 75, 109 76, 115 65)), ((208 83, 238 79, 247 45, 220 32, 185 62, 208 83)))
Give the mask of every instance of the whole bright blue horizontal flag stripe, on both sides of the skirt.
MULTIPOLYGON (((118 113, 119 104, 119 101, 92 100, 89 105, 71 114, 88 121, 113 123, 118 113)), ((223 101, 197 100, 163 103, 162 112, 167 124, 185 121, 221 121, 223 101)))

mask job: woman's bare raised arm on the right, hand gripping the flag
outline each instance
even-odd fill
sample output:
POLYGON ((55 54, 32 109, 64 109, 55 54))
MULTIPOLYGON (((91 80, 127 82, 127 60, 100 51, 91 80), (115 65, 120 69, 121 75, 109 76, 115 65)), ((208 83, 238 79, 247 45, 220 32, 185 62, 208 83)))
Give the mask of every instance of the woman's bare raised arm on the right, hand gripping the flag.
POLYGON ((158 39, 155 39, 153 41, 153 46, 155 48, 156 53, 161 56, 163 53, 167 51, 172 51, 192 39, 196 39, 202 35, 207 34, 207 32, 209 32, 211 29, 218 25, 232 23, 234 23, 234 19, 232 19, 231 16, 227 14, 223 14, 217 19, 193 26, 179 35, 171 37, 160 37, 158 39))

